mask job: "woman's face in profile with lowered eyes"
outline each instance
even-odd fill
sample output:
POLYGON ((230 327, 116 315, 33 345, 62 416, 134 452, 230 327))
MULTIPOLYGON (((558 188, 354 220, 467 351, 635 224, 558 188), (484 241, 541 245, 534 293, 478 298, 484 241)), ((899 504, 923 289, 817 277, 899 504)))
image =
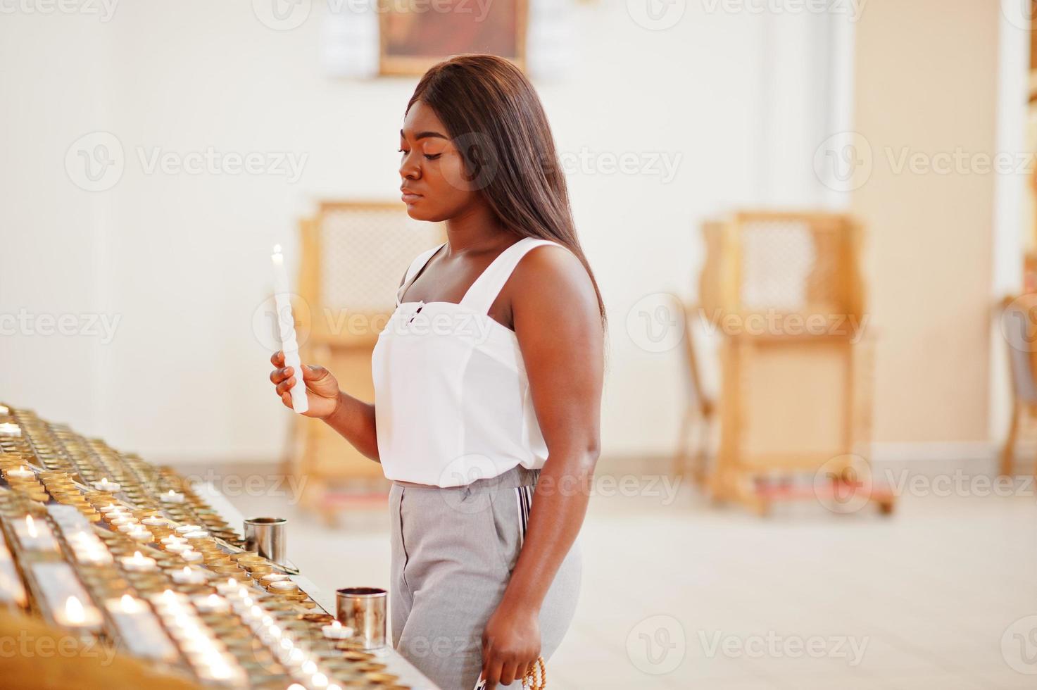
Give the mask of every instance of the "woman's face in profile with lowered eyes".
POLYGON ((422 101, 403 118, 399 147, 400 190, 411 218, 444 221, 481 202, 447 129, 422 101))

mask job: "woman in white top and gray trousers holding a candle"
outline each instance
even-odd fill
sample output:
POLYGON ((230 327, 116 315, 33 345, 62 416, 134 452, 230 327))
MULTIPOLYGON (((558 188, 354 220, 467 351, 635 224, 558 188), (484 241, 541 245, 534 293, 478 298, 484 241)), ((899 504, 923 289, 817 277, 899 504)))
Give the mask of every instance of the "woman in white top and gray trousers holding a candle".
MULTIPOLYGON (((306 414, 393 479, 393 645, 444 690, 517 688, 576 608, 605 309, 546 117, 514 65, 431 67, 399 150, 408 214, 445 222, 447 242, 403 276, 372 357, 374 404, 307 365, 306 414)), ((296 371, 281 353, 272 362, 290 407, 296 371)))

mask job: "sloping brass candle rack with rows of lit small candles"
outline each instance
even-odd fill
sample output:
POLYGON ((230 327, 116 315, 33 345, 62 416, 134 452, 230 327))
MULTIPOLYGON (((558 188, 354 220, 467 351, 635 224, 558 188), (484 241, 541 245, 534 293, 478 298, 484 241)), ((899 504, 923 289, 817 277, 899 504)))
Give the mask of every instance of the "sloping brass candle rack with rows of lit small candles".
POLYGON ((0 605, 199 685, 407 688, 171 468, 9 405, 0 424, 0 605))

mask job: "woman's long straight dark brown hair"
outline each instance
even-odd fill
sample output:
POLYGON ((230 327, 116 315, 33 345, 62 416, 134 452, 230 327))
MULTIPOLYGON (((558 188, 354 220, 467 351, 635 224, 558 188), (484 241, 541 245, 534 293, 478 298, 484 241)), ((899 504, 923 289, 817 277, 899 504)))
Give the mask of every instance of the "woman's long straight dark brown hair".
POLYGON ((469 182, 509 232, 554 240, 583 264, 605 302, 577 238, 569 195, 548 116, 533 85, 496 55, 465 54, 431 66, 407 104, 427 104, 447 128, 469 182))

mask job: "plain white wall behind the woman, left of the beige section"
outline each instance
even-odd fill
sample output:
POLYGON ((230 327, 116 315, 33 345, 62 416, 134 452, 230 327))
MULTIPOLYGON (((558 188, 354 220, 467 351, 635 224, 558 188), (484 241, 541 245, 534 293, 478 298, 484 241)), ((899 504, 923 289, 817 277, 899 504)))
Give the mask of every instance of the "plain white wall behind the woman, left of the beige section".
MULTIPOLYGON (((809 205, 829 113, 824 18, 776 21, 689 3, 671 29, 626 3, 571 13, 573 62, 538 79, 566 154, 655 154, 673 180, 576 170, 573 211, 611 318, 606 454, 666 453, 682 405, 680 350, 626 330, 642 298, 694 294, 700 220, 737 204, 809 205), (820 94, 820 95, 819 95, 820 94), (679 158, 678 158, 679 157, 679 158)), ((718 5, 719 6, 719 5, 718 5)), ((152 460, 274 459, 289 422, 252 313, 271 245, 295 244, 314 198, 394 198, 397 135, 416 79, 321 74, 328 8, 273 31, 251 3, 124 3, 110 22, 16 13, 0 23, 0 312, 120 319, 89 335, 0 338, 0 399, 152 460), (125 151, 120 182, 73 185, 65 149, 92 131, 125 151), (146 174, 137 148, 308 156, 271 175, 146 174)))

